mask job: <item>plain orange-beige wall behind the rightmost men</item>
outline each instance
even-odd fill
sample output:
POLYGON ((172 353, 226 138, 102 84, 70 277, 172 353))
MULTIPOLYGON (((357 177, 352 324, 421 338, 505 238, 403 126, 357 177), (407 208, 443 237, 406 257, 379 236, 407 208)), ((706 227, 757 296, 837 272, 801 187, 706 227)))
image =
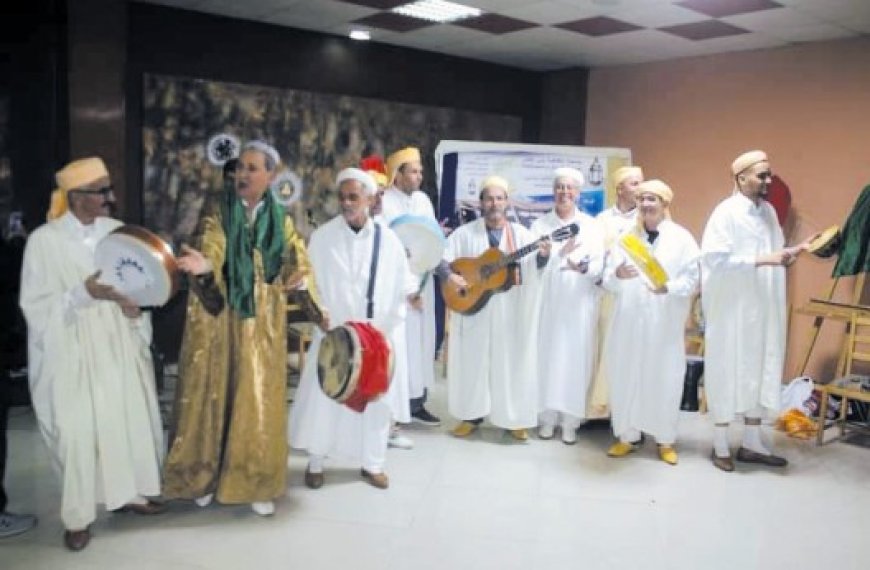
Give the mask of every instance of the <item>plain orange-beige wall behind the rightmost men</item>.
MULTIPOLYGON (((870 184, 870 38, 593 69, 586 144, 630 148, 648 178, 674 189, 674 219, 698 239, 730 193, 731 161, 764 149, 791 188, 794 242, 842 224, 870 184)), ((822 296, 832 268, 801 258, 789 270, 790 303, 822 296)), ((851 289, 841 282, 837 297, 851 289)), ((786 377, 811 323, 792 317, 786 377)), ((842 329, 822 328, 808 369, 817 380, 833 372, 842 329)))

